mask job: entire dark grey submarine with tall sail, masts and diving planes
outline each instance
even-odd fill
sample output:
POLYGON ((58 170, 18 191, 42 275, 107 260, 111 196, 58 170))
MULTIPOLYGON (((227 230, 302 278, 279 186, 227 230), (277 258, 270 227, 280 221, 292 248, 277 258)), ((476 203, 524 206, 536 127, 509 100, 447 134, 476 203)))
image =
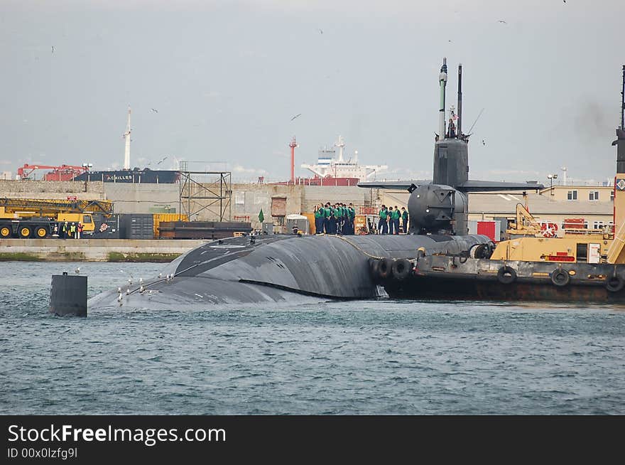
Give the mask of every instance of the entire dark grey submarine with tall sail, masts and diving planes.
MULTIPOLYGON (((491 240, 467 232, 467 193, 528 191, 538 183, 496 183, 468 178, 469 136, 462 133, 462 66, 458 114, 445 127, 447 60, 439 75, 440 126, 432 181, 359 183, 362 188, 406 188, 411 193, 407 235, 249 235, 214 240, 165 266, 156 279, 124 283, 89 299, 90 310, 110 307, 188 308, 210 304, 376 299, 388 296, 372 278, 383 259, 484 250, 491 240), (457 121, 457 126, 455 121, 457 121), (164 277, 163 277, 164 276, 164 277)), ((401 267, 403 260, 394 260, 401 267)), ((394 273, 407 270, 394 269, 394 273)), ((379 272, 389 273, 390 269, 379 272)))

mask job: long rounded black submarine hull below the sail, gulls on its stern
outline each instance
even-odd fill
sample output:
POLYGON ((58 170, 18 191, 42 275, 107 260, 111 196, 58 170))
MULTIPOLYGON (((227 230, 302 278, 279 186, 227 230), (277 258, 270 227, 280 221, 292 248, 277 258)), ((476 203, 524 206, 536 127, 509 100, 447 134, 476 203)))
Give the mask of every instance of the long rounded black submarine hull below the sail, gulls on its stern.
POLYGON ((489 242, 484 235, 247 236, 214 240, 178 257, 162 277, 124 284, 89 300, 154 309, 188 304, 374 299, 386 292, 371 278, 371 259, 458 254, 489 242))

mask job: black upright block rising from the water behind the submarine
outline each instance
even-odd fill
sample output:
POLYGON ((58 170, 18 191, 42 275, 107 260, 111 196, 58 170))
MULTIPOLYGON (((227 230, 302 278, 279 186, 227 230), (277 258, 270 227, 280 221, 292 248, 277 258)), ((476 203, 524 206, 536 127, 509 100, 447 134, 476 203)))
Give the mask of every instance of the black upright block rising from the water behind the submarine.
POLYGON ((87 316, 87 277, 53 274, 50 313, 57 316, 87 316))

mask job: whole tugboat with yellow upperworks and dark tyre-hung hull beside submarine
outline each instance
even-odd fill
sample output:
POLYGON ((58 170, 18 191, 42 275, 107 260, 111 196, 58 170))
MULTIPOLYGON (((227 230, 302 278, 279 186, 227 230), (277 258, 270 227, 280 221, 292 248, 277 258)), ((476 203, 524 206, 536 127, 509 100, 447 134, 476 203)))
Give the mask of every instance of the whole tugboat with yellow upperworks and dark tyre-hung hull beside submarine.
POLYGON ((467 252, 425 248, 416 258, 370 260, 371 277, 394 298, 625 303, 625 65, 616 151, 614 230, 545 237, 524 205, 508 240, 467 252))

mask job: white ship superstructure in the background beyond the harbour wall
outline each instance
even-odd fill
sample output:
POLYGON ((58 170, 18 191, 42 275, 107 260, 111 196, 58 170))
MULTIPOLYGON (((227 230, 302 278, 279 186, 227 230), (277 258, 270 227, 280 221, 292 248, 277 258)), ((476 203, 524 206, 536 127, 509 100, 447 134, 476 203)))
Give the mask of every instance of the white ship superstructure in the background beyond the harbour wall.
POLYGON ((317 164, 302 164, 302 168, 308 169, 320 178, 359 178, 360 181, 371 181, 375 173, 388 169, 386 165, 359 165, 358 151, 354 151, 354 156, 344 160, 343 149, 345 147, 343 138, 339 136, 334 147, 339 149, 339 158, 335 159, 336 151, 334 148, 320 149, 317 157, 317 164))

